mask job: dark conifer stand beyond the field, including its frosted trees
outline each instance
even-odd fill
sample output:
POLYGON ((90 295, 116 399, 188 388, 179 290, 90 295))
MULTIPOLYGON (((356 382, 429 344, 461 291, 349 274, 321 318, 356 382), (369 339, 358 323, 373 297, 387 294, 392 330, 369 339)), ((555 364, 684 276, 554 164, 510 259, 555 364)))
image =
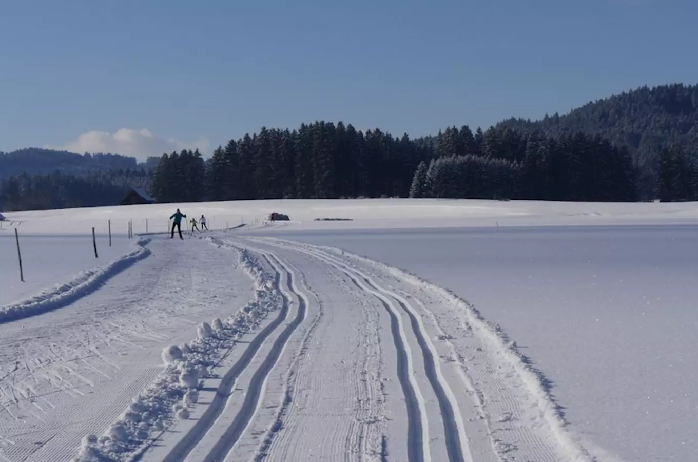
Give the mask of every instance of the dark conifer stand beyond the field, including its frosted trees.
POLYGON ((546 137, 509 128, 450 127, 410 140, 318 121, 262 128, 208 161, 165 154, 154 172, 159 202, 272 198, 484 198, 635 200, 628 149, 581 133, 546 137))

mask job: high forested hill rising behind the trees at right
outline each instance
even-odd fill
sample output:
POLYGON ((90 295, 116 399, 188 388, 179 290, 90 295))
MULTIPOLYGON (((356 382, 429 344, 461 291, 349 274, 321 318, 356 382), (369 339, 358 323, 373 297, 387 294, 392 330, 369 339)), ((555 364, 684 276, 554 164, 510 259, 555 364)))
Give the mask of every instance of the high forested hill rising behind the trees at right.
POLYGON ((640 87, 565 115, 546 115, 538 121, 507 119, 496 128, 549 136, 581 132, 626 145, 639 171, 640 193, 651 195, 662 149, 678 144, 689 157, 698 157, 698 85, 640 87))

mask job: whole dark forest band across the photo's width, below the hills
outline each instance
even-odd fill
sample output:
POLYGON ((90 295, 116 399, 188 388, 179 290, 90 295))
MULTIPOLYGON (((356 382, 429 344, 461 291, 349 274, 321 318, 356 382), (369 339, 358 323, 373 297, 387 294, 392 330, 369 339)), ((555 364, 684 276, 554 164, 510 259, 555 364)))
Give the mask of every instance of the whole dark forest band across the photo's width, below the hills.
MULTIPOLYGON (((662 200, 698 200, 698 158, 664 148, 653 189, 662 200)), ((547 135, 507 126, 449 127, 433 137, 394 137, 317 121, 262 128, 215 149, 163 154, 147 167, 13 175, 0 209, 118 204, 138 186, 158 202, 272 198, 482 198, 574 201, 646 199, 625 146, 581 132, 547 135)))

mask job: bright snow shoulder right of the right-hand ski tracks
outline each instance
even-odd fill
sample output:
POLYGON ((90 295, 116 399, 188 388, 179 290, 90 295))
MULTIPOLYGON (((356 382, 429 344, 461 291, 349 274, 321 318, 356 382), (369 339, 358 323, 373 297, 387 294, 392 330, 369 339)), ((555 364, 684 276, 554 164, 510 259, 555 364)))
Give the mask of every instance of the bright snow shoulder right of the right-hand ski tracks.
MULTIPOLYGON (((454 375, 461 380, 460 385, 453 384, 452 389, 470 389, 469 395, 472 396, 469 398, 471 403, 474 401, 480 416, 484 417, 489 445, 498 460, 596 460, 579 438, 567 431, 556 403, 542 385, 540 372, 528 366, 500 329, 490 325, 466 301, 406 271, 337 248, 274 237, 246 239, 332 262, 344 271, 366 276, 364 282, 367 284, 371 284, 371 281, 375 283, 376 278, 380 278, 390 281, 391 285, 403 285, 407 293, 420 300, 418 306, 423 311, 434 315, 431 311, 438 310, 439 315, 433 316, 438 320, 438 325, 433 327, 435 332, 432 337, 437 336, 437 329, 446 332, 439 348, 443 350, 443 346, 446 346, 456 350, 456 357, 451 357, 450 362, 459 368, 454 375), (460 338, 456 340, 456 336, 460 338)), ((401 298, 404 300, 404 297, 401 298)), ((462 401, 462 397, 459 401, 462 401)), ((463 403, 460 408, 464 409, 463 403)), ((471 424, 468 426, 473 427, 471 424)), ((468 434, 471 440, 473 436, 472 433, 468 434)), ((477 452, 482 452, 482 441, 477 445, 477 452)))

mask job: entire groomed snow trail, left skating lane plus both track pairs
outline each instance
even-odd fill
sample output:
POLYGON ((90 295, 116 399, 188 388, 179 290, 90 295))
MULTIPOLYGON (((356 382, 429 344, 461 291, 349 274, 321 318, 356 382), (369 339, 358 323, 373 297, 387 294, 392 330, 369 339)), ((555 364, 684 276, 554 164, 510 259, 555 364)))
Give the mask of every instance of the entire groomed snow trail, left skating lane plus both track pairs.
POLYGON ((232 292, 224 273, 205 274, 204 267, 220 271, 209 267, 210 255, 185 250, 198 269, 174 270, 175 251, 165 269, 138 270, 149 277, 132 288, 117 276, 103 293, 38 317, 38 334, 21 348, 22 329, 3 327, 12 337, 0 339, 8 350, 0 416, 13 432, 0 432, 0 461, 64 461, 77 438, 102 430, 83 441, 76 460, 98 451, 98 460, 144 462, 596 460, 567 432, 515 344, 451 292, 336 248, 226 234, 208 240, 218 247, 208 247, 217 265, 225 248, 237 252, 255 297, 218 320, 212 337, 181 343, 183 356, 164 373, 124 358, 191 338, 174 330, 212 313, 190 306, 183 316, 170 306, 180 291, 205 294, 225 311, 232 292), (114 315, 122 305, 128 311, 114 315), (168 327, 155 329, 158 321, 168 327), (68 334, 59 335, 61 325, 68 334), (200 366, 202 380, 187 380, 200 366), (138 380, 128 386, 114 380, 131 376, 138 380), (105 396, 110 403, 87 408, 84 422, 79 404, 61 410, 105 396))

